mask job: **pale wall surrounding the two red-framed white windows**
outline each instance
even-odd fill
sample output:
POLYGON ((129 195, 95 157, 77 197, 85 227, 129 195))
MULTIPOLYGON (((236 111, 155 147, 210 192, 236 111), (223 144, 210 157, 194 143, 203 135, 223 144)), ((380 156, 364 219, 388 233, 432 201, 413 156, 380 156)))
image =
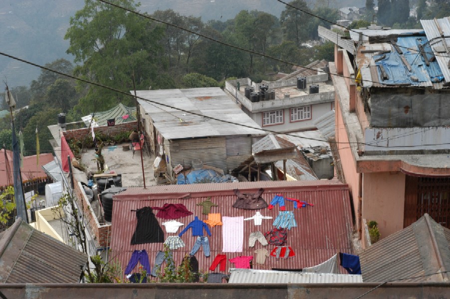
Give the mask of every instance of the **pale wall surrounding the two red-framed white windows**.
MULTIPOLYGON (((299 106, 300 107, 300 106, 299 106)), ((280 110, 280 109, 274 109, 280 110)), ((314 125, 314 122, 325 113, 330 112, 331 102, 330 103, 322 103, 311 105, 311 119, 300 121, 300 122, 290 122, 290 109, 282 109, 284 111, 284 124, 281 125, 273 125, 273 126, 264 126, 263 129, 273 130, 276 132, 293 132, 293 131, 301 131, 301 130, 315 130, 317 129, 314 125)), ((262 112, 253 113, 251 115, 251 119, 255 121, 256 124, 262 127, 262 112)))

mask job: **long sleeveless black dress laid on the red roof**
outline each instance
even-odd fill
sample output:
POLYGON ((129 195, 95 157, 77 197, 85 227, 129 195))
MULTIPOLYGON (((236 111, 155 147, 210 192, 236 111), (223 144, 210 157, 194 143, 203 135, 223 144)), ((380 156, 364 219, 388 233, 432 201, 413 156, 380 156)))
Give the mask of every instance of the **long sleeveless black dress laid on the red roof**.
POLYGON ((164 243, 164 232, 156 220, 151 207, 136 210, 138 224, 131 238, 131 245, 145 243, 164 243))

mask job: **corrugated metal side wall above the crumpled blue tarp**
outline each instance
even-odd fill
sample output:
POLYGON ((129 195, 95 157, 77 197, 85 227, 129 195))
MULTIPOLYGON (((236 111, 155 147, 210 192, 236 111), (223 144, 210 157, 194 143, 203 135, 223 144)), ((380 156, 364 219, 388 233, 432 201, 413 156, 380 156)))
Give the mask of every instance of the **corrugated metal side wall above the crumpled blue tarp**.
MULTIPOLYGON (((250 137, 248 137, 250 139, 250 137)), ((226 170, 225 138, 174 140, 170 142, 169 161, 173 166, 191 164, 200 159, 204 164, 226 170)), ((245 158, 242 158, 245 160, 245 158)))

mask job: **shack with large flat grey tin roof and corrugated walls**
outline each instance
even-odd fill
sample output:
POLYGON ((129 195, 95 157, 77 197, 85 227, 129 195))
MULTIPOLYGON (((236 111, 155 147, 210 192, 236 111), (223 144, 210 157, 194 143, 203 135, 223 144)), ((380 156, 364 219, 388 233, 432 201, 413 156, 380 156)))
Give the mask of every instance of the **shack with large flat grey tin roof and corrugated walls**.
POLYGON ((263 134, 220 88, 141 90, 137 96, 148 100, 138 100, 144 128, 152 150, 166 159, 170 182, 178 164, 196 159, 228 173, 251 156, 253 136, 263 134))

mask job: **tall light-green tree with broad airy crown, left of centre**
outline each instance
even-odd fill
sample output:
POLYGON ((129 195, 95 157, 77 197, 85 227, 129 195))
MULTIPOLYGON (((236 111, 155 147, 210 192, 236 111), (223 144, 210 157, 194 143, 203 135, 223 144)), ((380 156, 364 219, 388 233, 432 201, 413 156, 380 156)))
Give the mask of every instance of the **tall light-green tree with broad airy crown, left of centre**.
MULTIPOLYGON (((133 0, 113 0, 136 10, 133 0)), ((110 88, 129 93, 134 75, 137 89, 155 86, 159 74, 157 61, 162 47, 158 43, 163 28, 153 22, 109 4, 85 0, 85 5, 70 19, 65 39, 67 53, 79 63, 75 74, 110 88)), ((130 105, 132 98, 115 91, 79 84, 86 93, 78 104, 83 113, 105 110, 117 102, 130 105)))

